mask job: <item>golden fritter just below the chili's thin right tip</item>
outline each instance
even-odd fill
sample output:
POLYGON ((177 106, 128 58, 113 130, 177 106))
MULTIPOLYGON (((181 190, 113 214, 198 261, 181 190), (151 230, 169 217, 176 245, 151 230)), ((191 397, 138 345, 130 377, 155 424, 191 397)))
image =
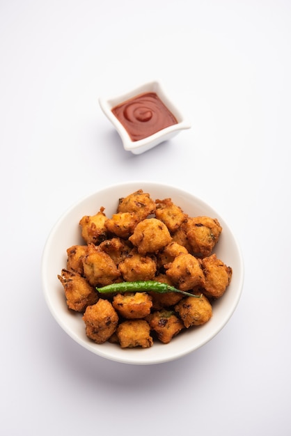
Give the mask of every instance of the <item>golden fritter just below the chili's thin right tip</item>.
POLYGON ((194 325, 203 325, 212 317, 212 306, 205 295, 200 298, 186 297, 175 305, 175 311, 179 313, 188 329, 194 325))

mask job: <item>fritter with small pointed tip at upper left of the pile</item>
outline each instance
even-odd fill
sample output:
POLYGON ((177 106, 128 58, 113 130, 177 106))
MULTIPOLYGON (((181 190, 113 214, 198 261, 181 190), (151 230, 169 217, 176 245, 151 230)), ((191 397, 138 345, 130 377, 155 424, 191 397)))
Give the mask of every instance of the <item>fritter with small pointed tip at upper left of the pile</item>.
POLYGON ((86 215, 80 219, 81 235, 87 244, 100 244, 107 238, 107 228, 105 226, 107 219, 103 207, 100 208, 96 215, 86 215))

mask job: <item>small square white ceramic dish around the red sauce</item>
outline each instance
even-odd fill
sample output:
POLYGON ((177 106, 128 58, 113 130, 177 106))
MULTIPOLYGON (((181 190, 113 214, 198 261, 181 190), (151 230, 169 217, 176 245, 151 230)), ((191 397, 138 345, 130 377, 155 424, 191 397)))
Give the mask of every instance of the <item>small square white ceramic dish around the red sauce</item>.
POLYGON ((100 97, 99 103, 102 111, 107 116, 107 118, 109 118, 113 126, 116 128, 118 134, 120 135, 125 150, 129 150, 135 155, 144 153, 145 151, 150 150, 150 148, 157 146, 159 143, 173 138, 176 134, 180 132, 180 130, 189 129, 189 127, 191 127, 189 121, 184 118, 182 113, 177 109, 177 107, 175 107, 173 102, 171 102, 158 81, 150 81, 147 84, 139 86, 139 88, 134 88, 132 91, 129 91, 123 95, 118 95, 117 97, 100 97), (118 104, 121 104, 142 93, 156 93, 158 97, 162 100, 162 102, 164 102, 166 107, 175 116, 178 124, 174 124, 166 127, 165 129, 159 130, 159 132, 152 134, 145 139, 132 141, 132 139, 129 137, 129 134, 127 133, 127 130, 125 130, 125 127, 123 127, 123 125, 116 118, 116 116, 113 115, 112 109, 118 104))

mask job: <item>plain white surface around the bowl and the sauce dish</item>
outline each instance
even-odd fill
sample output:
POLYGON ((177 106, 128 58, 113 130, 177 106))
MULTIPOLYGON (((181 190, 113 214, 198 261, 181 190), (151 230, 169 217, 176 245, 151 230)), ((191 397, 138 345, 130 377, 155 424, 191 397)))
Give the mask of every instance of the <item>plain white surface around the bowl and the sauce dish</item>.
POLYGON ((290 435, 290 22, 288 0, 1 0, 2 435, 290 435), (152 79, 192 127, 135 156, 97 99, 152 79), (84 350, 42 293, 58 217, 127 180, 207 201, 244 256, 228 325, 166 364, 84 350))

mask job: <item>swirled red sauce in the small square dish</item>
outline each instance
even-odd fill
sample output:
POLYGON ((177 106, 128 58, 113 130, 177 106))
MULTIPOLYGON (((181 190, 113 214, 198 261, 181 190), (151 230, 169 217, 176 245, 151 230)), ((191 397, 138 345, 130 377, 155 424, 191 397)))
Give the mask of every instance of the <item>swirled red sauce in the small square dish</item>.
POLYGON ((143 93, 111 109, 132 141, 139 141, 170 125, 178 124, 156 93, 143 93))

